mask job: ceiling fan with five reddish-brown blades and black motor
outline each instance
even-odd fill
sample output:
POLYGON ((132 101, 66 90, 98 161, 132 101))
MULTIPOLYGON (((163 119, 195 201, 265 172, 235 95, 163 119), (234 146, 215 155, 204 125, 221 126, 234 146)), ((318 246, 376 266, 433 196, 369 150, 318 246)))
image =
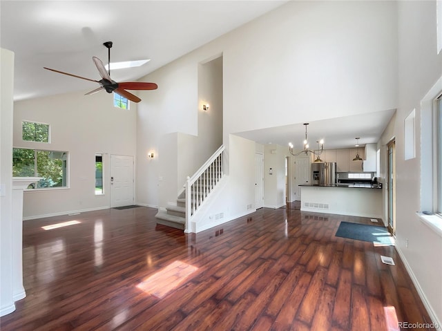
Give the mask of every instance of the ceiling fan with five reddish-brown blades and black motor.
POLYGON ((89 80, 90 82, 97 82, 100 84, 99 88, 95 88, 95 90, 90 91, 86 93, 86 95, 91 95, 94 93, 97 93, 99 91, 105 90, 107 93, 115 92, 118 95, 121 95, 122 97, 126 97, 126 99, 131 100, 133 102, 140 102, 141 99, 137 97, 136 95, 133 95, 132 93, 129 93, 126 90, 156 90, 158 88, 157 84, 155 83, 146 83, 146 82, 123 82, 123 83, 117 83, 114 80, 111 79, 111 48, 112 48, 112 41, 106 41, 103 43, 106 48, 108 48, 108 68, 109 71, 106 71, 106 68, 104 67, 104 64, 101 59, 98 57, 92 57, 93 62, 95 66, 98 69, 99 75, 102 76, 102 79, 95 80, 95 79, 89 79, 86 77, 81 77, 77 75, 73 75, 71 73, 64 73, 63 71, 46 68, 51 71, 55 71, 55 73, 62 73, 64 75, 77 77, 81 79, 89 80))

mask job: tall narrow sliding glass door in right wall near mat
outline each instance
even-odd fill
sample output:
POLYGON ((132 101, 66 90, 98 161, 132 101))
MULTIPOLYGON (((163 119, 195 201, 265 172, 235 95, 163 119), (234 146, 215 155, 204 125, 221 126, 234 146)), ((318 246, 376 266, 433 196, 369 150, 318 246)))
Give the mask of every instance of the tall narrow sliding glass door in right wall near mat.
POLYGON ((387 194, 388 194, 388 231, 396 234, 396 143, 387 144, 387 194))

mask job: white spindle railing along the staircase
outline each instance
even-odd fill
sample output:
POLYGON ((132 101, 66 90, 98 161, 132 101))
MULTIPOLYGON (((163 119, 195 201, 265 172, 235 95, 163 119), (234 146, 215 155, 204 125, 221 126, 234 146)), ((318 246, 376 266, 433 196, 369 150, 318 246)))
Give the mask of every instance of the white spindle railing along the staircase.
POLYGON ((224 176, 224 150, 225 147, 221 146, 192 177, 187 177, 185 185, 187 231, 193 215, 224 176))

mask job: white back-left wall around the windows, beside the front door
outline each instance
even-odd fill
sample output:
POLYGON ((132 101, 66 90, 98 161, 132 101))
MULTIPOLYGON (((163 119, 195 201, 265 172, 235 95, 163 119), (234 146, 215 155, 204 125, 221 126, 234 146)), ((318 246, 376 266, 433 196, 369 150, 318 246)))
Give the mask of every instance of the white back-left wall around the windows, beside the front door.
POLYGON ((109 155, 135 156, 136 105, 128 111, 115 108, 108 93, 66 93, 14 106, 15 147, 69 153, 70 188, 26 191, 23 218, 108 208, 109 155), (23 120, 50 124, 50 143, 23 141, 23 120), (95 196, 95 153, 104 153, 104 196, 95 196))

